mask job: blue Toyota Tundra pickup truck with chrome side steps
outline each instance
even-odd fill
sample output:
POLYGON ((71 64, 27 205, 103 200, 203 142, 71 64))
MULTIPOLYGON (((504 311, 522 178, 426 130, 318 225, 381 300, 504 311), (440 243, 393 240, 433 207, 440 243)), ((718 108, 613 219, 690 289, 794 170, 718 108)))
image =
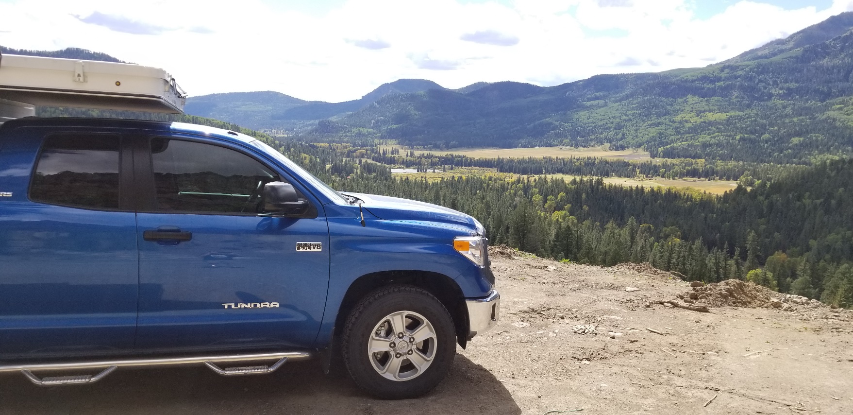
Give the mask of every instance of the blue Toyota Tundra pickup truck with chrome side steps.
POLYGON ((494 284, 467 214, 333 190, 241 133, 0 126, 0 372, 33 383, 316 358, 369 394, 414 397, 496 324, 494 284))

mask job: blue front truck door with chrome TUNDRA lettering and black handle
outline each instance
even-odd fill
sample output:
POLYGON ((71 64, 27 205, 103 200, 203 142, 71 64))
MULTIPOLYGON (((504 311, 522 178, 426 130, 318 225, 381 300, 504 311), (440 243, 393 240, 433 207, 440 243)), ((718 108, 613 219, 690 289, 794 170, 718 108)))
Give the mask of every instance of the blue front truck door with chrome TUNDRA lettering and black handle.
POLYGON ((329 276, 328 225, 310 191, 239 146, 171 136, 138 149, 148 165, 136 163, 137 348, 310 347, 329 276), (261 213, 271 181, 293 184, 310 214, 261 213))

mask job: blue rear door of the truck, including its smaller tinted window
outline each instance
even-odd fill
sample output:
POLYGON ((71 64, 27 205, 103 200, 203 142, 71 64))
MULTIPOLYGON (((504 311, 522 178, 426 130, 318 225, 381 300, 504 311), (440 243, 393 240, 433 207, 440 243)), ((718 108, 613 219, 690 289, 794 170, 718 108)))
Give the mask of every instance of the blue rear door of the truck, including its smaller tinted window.
POLYGON ((138 262, 123 139, 13 132, 0 152, 0 354, 130 350, 138 262))

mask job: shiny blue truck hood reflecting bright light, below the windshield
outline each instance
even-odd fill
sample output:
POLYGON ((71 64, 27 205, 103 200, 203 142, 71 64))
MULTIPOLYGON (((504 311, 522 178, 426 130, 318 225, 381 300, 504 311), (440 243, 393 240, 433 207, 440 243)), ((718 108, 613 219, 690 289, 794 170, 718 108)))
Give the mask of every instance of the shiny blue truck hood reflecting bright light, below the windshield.
POLYGON ((451 225, 463 225, 471 231, 483 234, 483 225, 471 216, 443 206, 427 202, 412 201, 401 197, 365 195, 343 192, 364 201, 363 208, 377 218, 386 220, 419 220, 451 225))

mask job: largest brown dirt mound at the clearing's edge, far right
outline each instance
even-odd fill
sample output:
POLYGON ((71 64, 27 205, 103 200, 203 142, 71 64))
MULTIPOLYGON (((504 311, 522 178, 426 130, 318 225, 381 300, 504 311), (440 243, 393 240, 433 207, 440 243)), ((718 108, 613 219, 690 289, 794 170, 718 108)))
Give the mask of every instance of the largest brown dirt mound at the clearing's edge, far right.
POLYGON ((782 295, 780 293, 757 283, 737 279, 693 287, 692 291, 677 296, 684 302, 695 302, 708 307, 782 307, 782 295))

